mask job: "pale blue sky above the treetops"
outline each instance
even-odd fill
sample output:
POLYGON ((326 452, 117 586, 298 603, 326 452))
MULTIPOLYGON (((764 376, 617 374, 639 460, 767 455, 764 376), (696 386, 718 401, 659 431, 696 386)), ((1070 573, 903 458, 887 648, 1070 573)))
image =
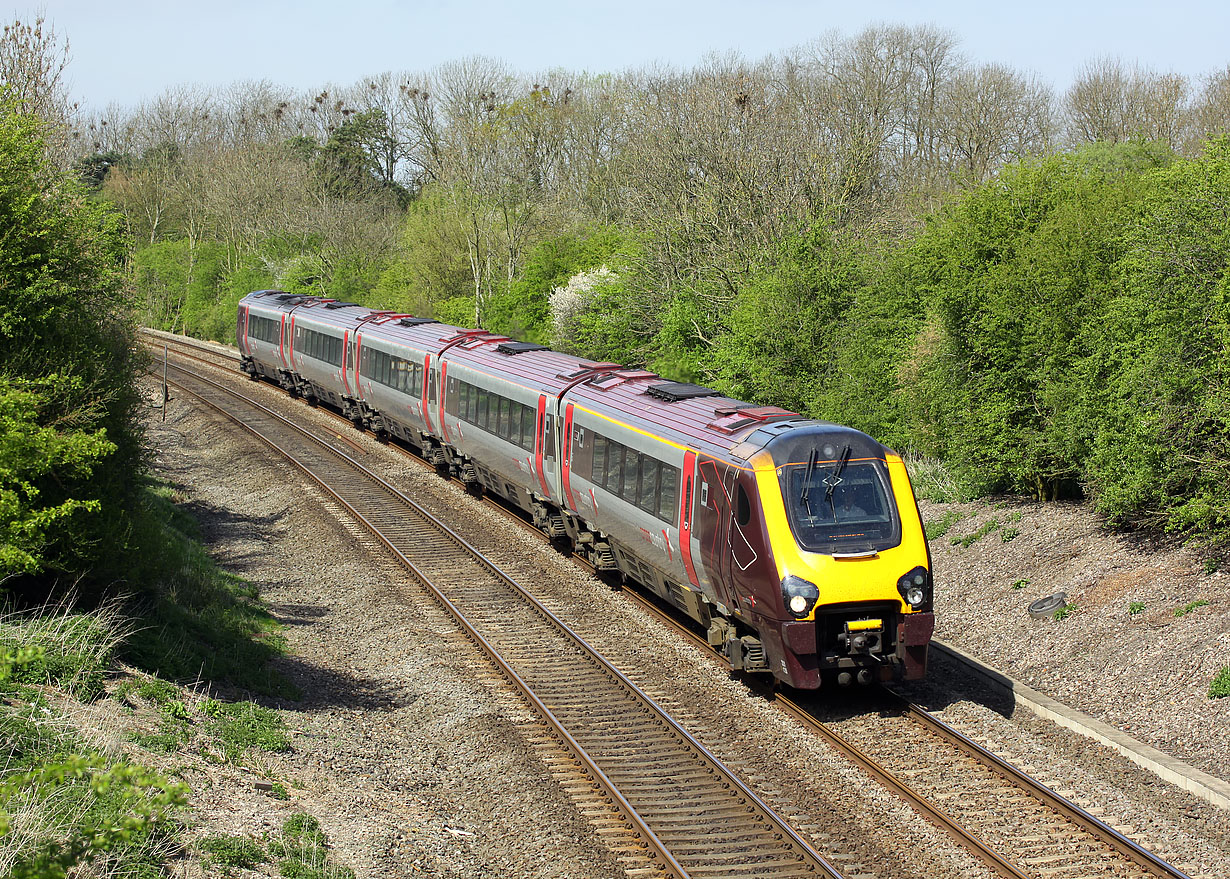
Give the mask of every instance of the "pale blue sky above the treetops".
POLYGON ((9 21, 42 15, 68 38, 69 93, 91 111, 182 85, 347 86, 471 55, 528 75, 689 68, 728 50, 758 60, 876 23, 952 31, 972 61, 1037 74, 1058 91, 1103 57, 1193 80, 1230 64, 1226 0, 44 0, 10 10, 9 21))

